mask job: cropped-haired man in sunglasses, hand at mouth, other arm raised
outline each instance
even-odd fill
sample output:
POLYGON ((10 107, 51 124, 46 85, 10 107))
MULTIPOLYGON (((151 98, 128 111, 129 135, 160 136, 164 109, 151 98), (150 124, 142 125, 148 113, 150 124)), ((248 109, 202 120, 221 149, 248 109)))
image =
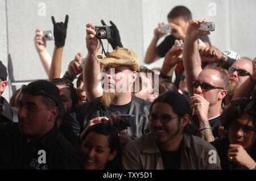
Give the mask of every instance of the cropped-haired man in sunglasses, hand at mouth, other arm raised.
POLYGON ((187 75, 187 87, 193 108, 192 123, 199 128, 201 138, 213 141, 220 136, 218 126, 222 113, 222 99, 228 90, 228 75, 221 68, 207 66, 201 68, 197 38, 208 35, 201 31, 200 24, 208 20, 193 20, 187 29, 183 48, 183 64, 187 75), (213 136, 212 136, 213 135, 213 136))

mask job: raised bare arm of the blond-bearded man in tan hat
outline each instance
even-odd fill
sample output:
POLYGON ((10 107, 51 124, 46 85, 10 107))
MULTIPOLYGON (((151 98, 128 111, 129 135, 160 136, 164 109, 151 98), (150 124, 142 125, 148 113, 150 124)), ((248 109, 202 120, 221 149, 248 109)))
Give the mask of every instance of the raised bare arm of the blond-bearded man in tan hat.
POLYGON ((94 24, 86 24, 86 48, 88 54, 85 58, 83 77, 85 92, 88 100, 102 96, 103 90, 101 80, 98 75, 101 73, 100 64, 96 61, 96 55, 101 47, 100 41, 97 39, 96 32, 92 29, 94 24))

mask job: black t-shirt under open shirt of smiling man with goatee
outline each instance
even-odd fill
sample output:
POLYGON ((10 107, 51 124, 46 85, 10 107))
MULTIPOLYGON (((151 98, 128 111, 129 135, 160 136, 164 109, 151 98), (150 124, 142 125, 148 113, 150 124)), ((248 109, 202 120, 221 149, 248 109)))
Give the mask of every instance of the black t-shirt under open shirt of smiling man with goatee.
POLYGON ((160 149, 164 170, 178 170, 180 167, 181 148, 177 151, 160 149))

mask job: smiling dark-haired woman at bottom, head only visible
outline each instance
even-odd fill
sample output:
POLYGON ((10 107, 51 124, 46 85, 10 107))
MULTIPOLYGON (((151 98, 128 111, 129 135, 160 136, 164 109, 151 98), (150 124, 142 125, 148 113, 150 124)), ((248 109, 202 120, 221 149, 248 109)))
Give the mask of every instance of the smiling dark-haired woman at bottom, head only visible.
POLYGON ((119 169, 119 138, 112 125, 92 125, 82 138, 81 157, 84 169, 119 169))

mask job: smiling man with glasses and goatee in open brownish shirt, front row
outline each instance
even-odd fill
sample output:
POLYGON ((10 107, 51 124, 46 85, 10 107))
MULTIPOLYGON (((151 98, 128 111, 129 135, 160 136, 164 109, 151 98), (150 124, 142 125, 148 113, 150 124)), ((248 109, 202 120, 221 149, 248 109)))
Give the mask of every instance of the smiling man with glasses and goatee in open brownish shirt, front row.
POLYGON ((220 169, 216 149, 192 135, 190 107, 188 99, 177 91, 158 96, 148 116, 150 133, 143 134, 123 148, 123 169, 220 169), (214 158, 212 153, 216 153, 214 158))

